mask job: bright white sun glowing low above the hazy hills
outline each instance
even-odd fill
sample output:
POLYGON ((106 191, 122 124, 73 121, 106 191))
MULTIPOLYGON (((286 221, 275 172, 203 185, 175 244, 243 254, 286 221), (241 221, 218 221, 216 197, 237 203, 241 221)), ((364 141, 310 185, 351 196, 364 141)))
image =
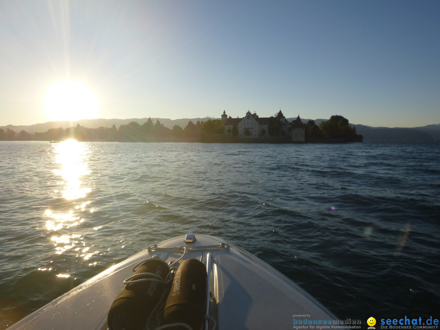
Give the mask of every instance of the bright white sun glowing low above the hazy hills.
POLYGON ((65 80, 51 85, 44 95, 44 110, 52 121, 94 119, 99 102, 92 89, 80 81, 65 80))

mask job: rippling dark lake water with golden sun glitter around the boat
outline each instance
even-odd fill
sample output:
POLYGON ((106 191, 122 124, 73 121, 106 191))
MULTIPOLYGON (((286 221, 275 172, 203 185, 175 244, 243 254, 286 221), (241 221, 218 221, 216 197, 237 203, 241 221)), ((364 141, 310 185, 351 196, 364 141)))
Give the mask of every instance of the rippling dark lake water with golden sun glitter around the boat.
POLYGON ((440 316, 440 148, 0 142, 0 329, 189 232, 341 319, 440 316))

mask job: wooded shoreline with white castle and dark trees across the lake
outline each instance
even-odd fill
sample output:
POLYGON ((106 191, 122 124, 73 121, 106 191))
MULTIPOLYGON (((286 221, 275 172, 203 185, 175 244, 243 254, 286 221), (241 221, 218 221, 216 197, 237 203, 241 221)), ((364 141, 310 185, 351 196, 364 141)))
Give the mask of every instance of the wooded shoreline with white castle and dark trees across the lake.
POLYGON ((73 127, 50 128, 46 132, 16 133, 10 128, 0 128, 0 140, 20 141, 108 141, 108 142, 204 142, 204 143, 347 143, 362 142, 363 136, 348 119, 334 115, 319 126, 315 121, 304 123, 298 115, 289 121, 282 111, 271 117, 259 117, 249 110, 243 117, 232 118, 223 111, 220 119, 190 120, 182 128, 165 127, 157 119, 148 118, 142 125, 137 121, 112 127, 87 128, 79 123, 73 127))

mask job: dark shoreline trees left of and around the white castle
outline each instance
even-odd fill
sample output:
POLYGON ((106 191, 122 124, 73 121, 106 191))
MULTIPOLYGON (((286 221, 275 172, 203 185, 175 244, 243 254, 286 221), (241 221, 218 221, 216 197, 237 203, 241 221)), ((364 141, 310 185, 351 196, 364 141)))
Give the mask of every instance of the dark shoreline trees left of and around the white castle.
MULTIPOLYGON (((264 128, 263 128, 264 130, 264 128)), ((261 132, 262 136, 266 134, 261 132)), ((232 128, 233 136, 238 136, 236 125, 232 128)), ((271 137, 285 135, 282 124, 278 118, 270 117, 268 122, 268 135, 271 137)), ((185 128, 174 125, 172 129, 165 127, 159 120, 153 123, 151 118, 139 125, 132 121, 121 125, 117 129, 111 128, 87 128, 80 124, 69 128, 51 128, 46 132, 28 133, 25 130, 15 132, 10 128, 0 128, 1 141, 61 141, 76 139, 77 141, 116 141, 116 142, 147 142, 147 141, 198 141, 209 134, 224 134, 224 123, 219 119, 208 121, 188 121, 185 128)), ((246 135, 246 132, 245 132, 246 135)), ((310 120, 305 125, 305 138, 308 142, 325 142, 325 139, 343 139, 345 142, 362 141, 362 135, 356 134, 356 128, 348 124, 348 119, 342 116, 331 116, 328 121, 323 121, 318 126, 310 120)))

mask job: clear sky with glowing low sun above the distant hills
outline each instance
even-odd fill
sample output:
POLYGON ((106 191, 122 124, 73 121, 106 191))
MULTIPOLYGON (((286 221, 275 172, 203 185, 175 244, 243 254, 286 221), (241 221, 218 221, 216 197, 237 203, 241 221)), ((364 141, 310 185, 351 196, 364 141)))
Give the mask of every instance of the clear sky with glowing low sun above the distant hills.
POLYGON ((280 108, 439 124, 440 1, 0 1, 0 125, 280 108))

